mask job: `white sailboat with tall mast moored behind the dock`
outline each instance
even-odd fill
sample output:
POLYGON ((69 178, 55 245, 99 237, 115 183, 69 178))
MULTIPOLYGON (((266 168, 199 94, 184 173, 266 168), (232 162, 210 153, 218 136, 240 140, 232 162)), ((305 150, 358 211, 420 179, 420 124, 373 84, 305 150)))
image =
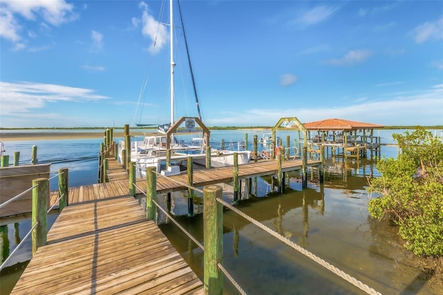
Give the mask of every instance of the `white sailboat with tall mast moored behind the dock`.
MULTIPOLYGON (((180 7, 180 6, 179 6, 180 7)), ((183 26, 183 21, 182 21, 183 26)), ((192 158, 194 163, 202 166, 206 166, 206 153, 210 152, 210 166, 220 167, 229 166, 234 164, 234 152, 237 152, 237 159, 239 165, 248 163, 251 159, 251 151, 245 150, 216 150, 212 147, 208 149, 210 145, 209 136, 207 140, 205 138, 193 137, 192 141, 186 143, 183 140, 179 140, 174 134, 168 134, 168 130, 174 126, 174 17, 173 17, 173 0, 170 0, 170 122, 159 125, 157 133, 146 134, 143 141, 134 141, 131 144, 131 161, 136 163, 136 170, 138 176, 145 176, 147 167, 154 166, 156 171, 161 172, 162 175, 177 175, 181 172, 180 167, 186 167, 186 161, 189 157, 192 158), (168 155, 168 150, 170 154, 168 155), (171 166, 166 167, 166 163, 172 163, 171 166)), ((183 28, 183 36, 186 43, 186 35, 183 28)), ((186 50, 188 51, 188 45, 186 44, 186 50)), ((189 54, 188 54, 189 59, 189 54)), ((190 63, 189 63, 190 64, 190 63)), ((190 66, 191 78, 194 83, 194 77, 192 73, 192 67, 190 66)), ((195 95, 197 91, 195 84, 193 85, 195 95)), ((185 126, 183 130, 188 134, 195 134, 201 129, 195 128, 195 123, 199 122, 201 125, 201 113, 199 110, 199 104, 197 100, 197 108, 199 112, 198 118, 186 118, 183 120, 185 126)), ((180 121, 180 120, 178 120, 180 121)), ((138 124, 140 126, 140 124, 138 124)), ((201 127, 201 126, 200 126, 201 127)), ((206 127, 205 127, 206 128, 206 127)), ((200 131, 201 132, 201 131, 200 131)), ((209 132, 209 131, 208 131, 209 132)), ((121 150, 124 147, 124 142, 119 144, 119 155, 121 159, 121 150)))

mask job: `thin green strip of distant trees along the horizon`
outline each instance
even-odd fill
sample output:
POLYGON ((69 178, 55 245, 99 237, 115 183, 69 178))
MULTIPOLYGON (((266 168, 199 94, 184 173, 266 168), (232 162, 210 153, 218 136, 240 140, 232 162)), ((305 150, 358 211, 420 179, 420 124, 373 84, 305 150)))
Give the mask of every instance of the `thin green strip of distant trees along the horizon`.
MULTIPOLYGON (((435 126, 407 126, 407 125, 392 125, 383 126, 379 129, 417 129, 417 127, 423 127, 424 129, 443 129, 443 125, 435 126)), ((0 127, 0 130, 93 130, 93 129, 106 129, 110 127, 20 127, 20 128, 5 128, 0 127)), ((272 126, 213 126, 208 127, 213 130, 235 130, 235 129, 272 129, 272 126)), ((114 127, 114 129, 123 129, 123 127, 114 127)), ((134 129, 134 127, 132 127, 134 129)), ((135 127, 135 129, 155 129, 154 127, 135 127)))

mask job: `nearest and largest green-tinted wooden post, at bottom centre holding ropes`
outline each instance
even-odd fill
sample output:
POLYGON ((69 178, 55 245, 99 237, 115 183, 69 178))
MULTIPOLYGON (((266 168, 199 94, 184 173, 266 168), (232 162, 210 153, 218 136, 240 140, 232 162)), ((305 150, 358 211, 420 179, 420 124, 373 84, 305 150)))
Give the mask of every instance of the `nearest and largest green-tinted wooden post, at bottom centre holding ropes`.
POLYGON ((204 294, 223 294, 223 273, 218 264, 223 260, 223 190, 210 185, 203 188, 204 229, 204 294))

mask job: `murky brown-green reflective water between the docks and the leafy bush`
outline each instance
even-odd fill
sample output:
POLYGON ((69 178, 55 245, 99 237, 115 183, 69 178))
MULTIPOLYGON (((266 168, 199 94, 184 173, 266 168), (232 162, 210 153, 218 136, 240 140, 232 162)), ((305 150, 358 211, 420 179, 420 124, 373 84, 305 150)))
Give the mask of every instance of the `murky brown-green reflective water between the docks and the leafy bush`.
MULTIPOLYGON (((299 175, 294 173, 283 194, 272 190, 266 197, 252 194, 239 201, 237 208, 382 294, 438 294, 415 267, 420 258, 396 240, 396 228, 388 230, 387 224, 368 215, 365 188, 367 177, 377 173, 375 162, 342 163, 343 170, 328 173, 325 184, 312 179, 302 190, 299 175)), ((271 184, 272 179, 259 178, 252 191, 271 184)), ((179 222, 203 242, 200 215, 179 217, 179 222)), ((203 278, 201 250, 174 225, 165 224, 161 229, 203 278)), ((223 232, 224 267, 248 294, 361 293, 232 211, 224 211, 223 232)), ((225 290, 236 294, 228 282, 225 290)))

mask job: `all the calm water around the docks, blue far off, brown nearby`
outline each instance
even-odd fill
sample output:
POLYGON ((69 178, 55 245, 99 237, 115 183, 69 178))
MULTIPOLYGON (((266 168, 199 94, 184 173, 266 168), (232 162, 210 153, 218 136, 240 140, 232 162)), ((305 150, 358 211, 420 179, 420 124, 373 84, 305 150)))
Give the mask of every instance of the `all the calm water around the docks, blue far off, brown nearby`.
MULTIPOLYGON (((402 133, 404 130, 395 130, 402 133)), ((248 141, 262 132, 249 130, 214 131, 211 141, 248 141)), ((263 131, 267 132, 267 131, 263 131)), ((392 131, 375 132, 382 143, 394 143, 392 131)), ((289 134, 294 136, 294 134, 289 134)), ((285 142, 286 135, 281 134, 285 142)), ((293 140, 293 138, 291 138, 293 140)), ((57 141, 8 141, 6 154, 21 152, 21 163, 30 161, 32 145, 38 147, 39 163, 53 163, 51 174, 69 168, 69 185, 97 182, 98 150, 101 139, 57 141)), ((395 157, 397 147, 383 146, 381 154, 395 157)), ((11 159, 12 161, 12 159, 11 159)), ((328 160, 325 184, 309 181, 302 190, 298 174, 290 175, 285 193, 271 192, 269 178, 257 180, 256 195, 244 196, 237 208, 281 233, 296 244, 323 258, 383 294, 439 294, 432 289, 424 274, 417 269, 417 258, 401 247, 396 229, 386 222, 368 216, 367 177, 378 175, 370 159, 341 158, 328 160)), ((57 189, 56 179, 51 190, 57 189)), ((230 199, 226 187, 225 199, 230 199)), ((162 199, 163 197, 160 196, 162 199)), ((201 200, 195 200, 201 210, 201 200)), ((186 200, 173 199, 173 213, 186 215, 186 200)), ((50 217, 49 226, 57 215, 50 217)), ((203 241, 202 216, 178 217, 179 222, 203 241)), ((28 218, 2 223, 2 261, 15 249, 30 229, 28 218)), ((173 224, 161 226, 162 231, 203 278, 203 253, 173 224)), ((31 257, 30 241, 12 259, 10 267, 1 272, 1 294, 9 294, 31 257)), ((359 294, 359 289, 332 272, 323 269, 297 251, 265 233, 254 224, 231 211, 224 212, 224 267, 248 294, 359 294)), ((225 293, 236 294, 225 279, 225 293)), ((440 293, 441 294, 441 293, 440 293)))

